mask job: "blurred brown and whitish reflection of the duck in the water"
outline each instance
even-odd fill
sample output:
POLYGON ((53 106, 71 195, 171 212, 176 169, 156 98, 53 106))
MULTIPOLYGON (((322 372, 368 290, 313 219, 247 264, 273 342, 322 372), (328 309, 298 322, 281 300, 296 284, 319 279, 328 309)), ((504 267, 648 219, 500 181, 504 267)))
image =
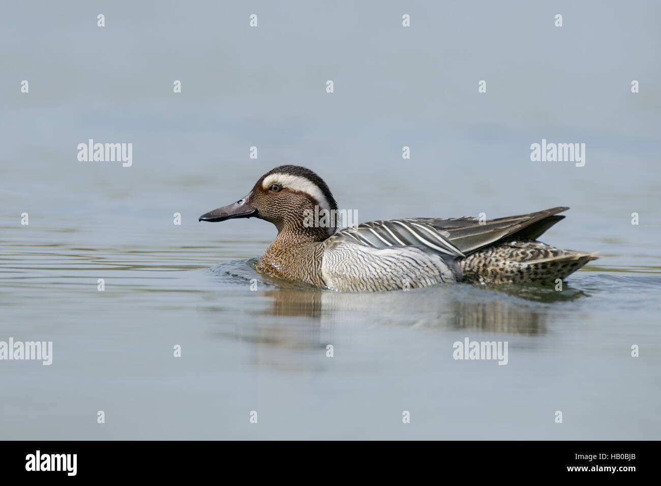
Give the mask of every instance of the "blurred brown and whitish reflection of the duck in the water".
MULTIPOLYGON (((556 291, 552 286, 530 284, 490 288, 453 284, 358 294, 301 288, 282 281, 265 283, 265 290, 251 292, 253 304, 244 311, 241 324, 215 314, 220 317, 217 333, 289 350, 307 349, 321 356, 333 341, 334 330, 347 326, 354 330, 399 326, 541 336, 547 333, 554 302, 585 295, 566 285, 556 291)), ((248 298, 245 292, 241 294, 248 298)))

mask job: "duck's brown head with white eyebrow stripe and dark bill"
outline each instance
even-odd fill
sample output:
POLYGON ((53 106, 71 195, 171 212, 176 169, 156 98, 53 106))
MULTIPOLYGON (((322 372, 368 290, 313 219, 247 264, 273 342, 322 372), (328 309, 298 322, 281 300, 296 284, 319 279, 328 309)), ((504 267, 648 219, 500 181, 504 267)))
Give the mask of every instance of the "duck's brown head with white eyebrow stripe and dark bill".
POLYGON ((199 220, 260 218, 276 225, 279 235, 285 233, 297 241, 321 241, 335 232, 339 222, 332 224, 332 218, 328 218, 331 224, 310 225, 309 215, 314 218, 315 206, 321 215, 321 210, 337 210, 326 182, 305 167, 281 165, 262 175, 247 196, 205 213, 199 220))

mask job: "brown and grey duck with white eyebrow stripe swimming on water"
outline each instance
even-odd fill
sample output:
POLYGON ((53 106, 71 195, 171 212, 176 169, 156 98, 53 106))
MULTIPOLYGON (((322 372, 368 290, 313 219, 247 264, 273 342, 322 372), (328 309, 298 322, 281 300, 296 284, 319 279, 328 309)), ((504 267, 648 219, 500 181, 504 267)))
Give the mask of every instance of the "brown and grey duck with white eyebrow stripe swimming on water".
MULTIPOLYGON (((262 175, 252 190, 200 222, 259 218, 278 235, 256 270, 282 280, 336 292, 385 292, 437 284, 557 284, 597 259, 537 238, 564 219, 565 206, 494 220, 402 218, 340 229, 326 182, 297 165, 262 175)), ((341 214, 341 213, 340 213, 341 214)))

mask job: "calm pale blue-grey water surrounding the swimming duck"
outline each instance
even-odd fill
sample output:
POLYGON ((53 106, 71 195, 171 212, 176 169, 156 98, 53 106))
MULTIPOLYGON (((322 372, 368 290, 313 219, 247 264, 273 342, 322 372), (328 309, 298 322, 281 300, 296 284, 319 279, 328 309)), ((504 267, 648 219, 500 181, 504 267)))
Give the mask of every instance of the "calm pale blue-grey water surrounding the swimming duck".
POLYGON ((0 341, 54 356, 0 361, 0 438, 659 438, 658 6, 159 5, 1 7, 0 341), (585 167, 531 162, 542 138, 585 167), (197 218, 281 163, 360 221, 571 206, 542 240, 602 259, 563 292, 272 282, 274 227, 197 218))

